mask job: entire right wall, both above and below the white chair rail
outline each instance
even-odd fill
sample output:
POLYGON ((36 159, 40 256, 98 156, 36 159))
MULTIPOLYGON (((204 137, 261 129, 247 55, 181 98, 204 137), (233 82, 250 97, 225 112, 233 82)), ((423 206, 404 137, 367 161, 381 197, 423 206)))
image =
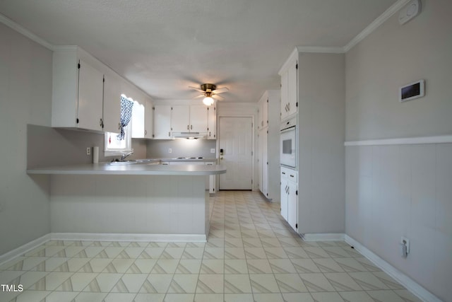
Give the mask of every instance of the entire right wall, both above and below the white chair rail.
MULTIPOLYGON (((346 54, 346 137, 452 134, 451 1, 398 13, 346 54), (425 79, 424 98, 398 102, 398 88, 425 79)), ((452 301, 451 144, 348 146, 346 233, 443 301, 452 301), (399 255, 400 236, 410 255, 399 255)))

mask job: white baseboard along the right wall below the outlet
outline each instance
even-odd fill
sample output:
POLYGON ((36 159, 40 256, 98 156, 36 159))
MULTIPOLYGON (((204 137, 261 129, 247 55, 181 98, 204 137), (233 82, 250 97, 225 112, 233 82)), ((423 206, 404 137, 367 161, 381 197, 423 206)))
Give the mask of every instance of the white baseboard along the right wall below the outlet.
POLYGON ((398 281, 398 283, 405 286, 406 289, 408 289, 408 291, 417 296, 417 298, 420 298, 422 301, 441 302, 441 300, 434 296, 434 294, 427 291, 427 289, 424 289, 424 287, 420 286, 420 284, 417 284, 416 281, 408 277, 406 274, 403 274, 403 272, 400 272, 398 269, 396 269, 396 267, 393 267, 388 262, 381 259, 381 257, 374 254, 374 252, 371 252, 371 250, 364 247, 364 245, 359 243, 357 240, 351 238, 350 236, 345 235, 345 242, 352 245, 353 248, 355 248, 355 250, 360 252, 364 257, 369 259, 371 262, 374 262, 374 264, 381 270, 383 270, 383 272, 386 272, 386 274, 388 274, 393 279, 398 281))

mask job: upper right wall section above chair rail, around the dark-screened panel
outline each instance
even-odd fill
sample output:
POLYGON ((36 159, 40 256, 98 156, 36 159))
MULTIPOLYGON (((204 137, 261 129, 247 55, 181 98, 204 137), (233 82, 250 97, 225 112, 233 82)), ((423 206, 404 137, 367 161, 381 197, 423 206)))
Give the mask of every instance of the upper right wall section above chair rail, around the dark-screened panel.
POLYGON ((346 54, 347 141, 452 134, 451 1, 422 1, 398 13, 346 54), (425 79, 426 95, 405 103, 398 89, 425 79))

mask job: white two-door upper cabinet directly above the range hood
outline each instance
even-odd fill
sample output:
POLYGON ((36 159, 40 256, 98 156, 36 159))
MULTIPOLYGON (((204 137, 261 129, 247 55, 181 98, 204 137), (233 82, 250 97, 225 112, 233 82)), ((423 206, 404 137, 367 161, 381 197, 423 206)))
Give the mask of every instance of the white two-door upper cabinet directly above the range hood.
POLYGON ((208 110, 205 105, 173 105, 172 132, 207 132, 208 110))

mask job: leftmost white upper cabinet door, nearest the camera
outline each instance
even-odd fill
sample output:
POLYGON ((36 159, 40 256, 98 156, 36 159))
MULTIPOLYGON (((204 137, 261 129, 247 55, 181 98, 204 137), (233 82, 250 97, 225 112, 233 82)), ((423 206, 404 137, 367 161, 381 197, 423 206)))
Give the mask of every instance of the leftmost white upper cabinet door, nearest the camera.
POLYGON ((78 69, 78 127, 102 131, 104 74, 80 60, 78 69))

